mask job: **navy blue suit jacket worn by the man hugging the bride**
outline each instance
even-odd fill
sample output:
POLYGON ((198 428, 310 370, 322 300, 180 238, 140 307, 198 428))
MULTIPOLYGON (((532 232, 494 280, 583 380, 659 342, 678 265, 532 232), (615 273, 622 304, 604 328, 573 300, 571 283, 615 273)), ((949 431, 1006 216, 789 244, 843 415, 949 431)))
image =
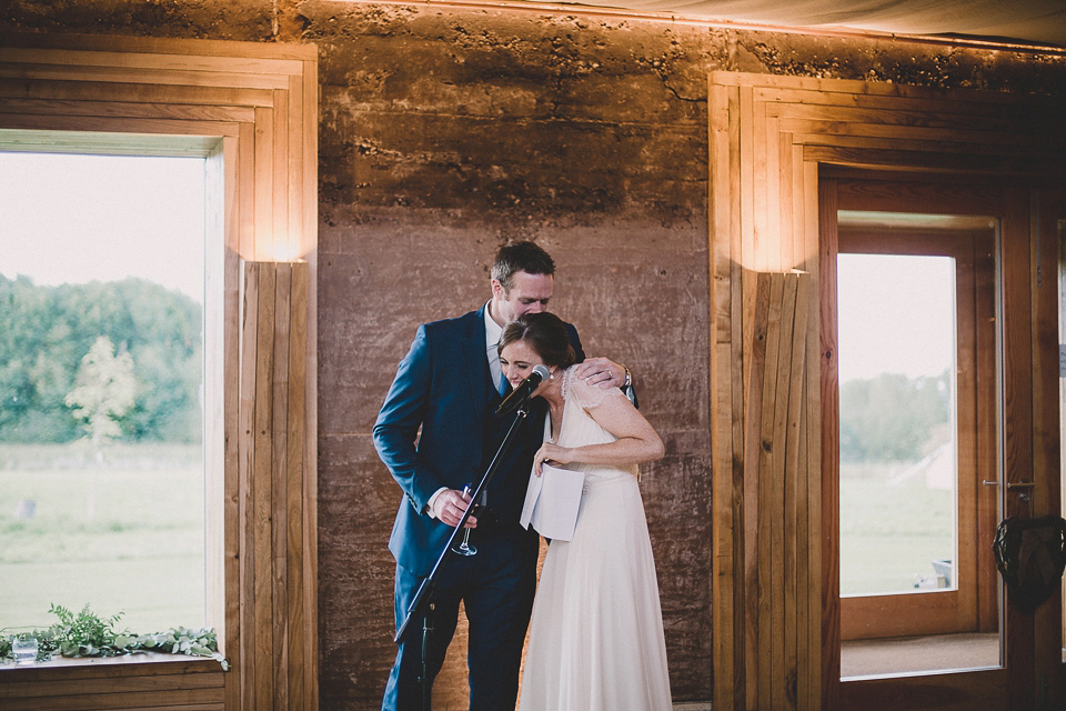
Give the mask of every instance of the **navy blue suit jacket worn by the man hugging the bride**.
MULTIPOLYGON (((566 329, 583 360, 577 331, 566 329)), ((373 430, 374 447, 405 494, 389 550, 415 575, 429 574, 452 532, 425 514, 430 497, 441 487, 476 483, 513 421, 513 414, 493 414, 499 401, 485 357, 484 307, 419 327, 373 430)), ((519 519, 546 409, 533 399, 511 454, 489 485, 489 507, 501 521, 519 519)))

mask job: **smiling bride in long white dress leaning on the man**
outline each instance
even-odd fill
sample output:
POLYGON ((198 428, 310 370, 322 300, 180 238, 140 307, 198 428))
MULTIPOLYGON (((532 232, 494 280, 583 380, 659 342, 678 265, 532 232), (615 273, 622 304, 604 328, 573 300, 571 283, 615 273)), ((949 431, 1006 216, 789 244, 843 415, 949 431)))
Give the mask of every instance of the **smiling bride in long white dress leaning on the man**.
POLYGON ((655 563, 637 464, 663 442, 617 388, 574 377, 563 322, 526 313, 500 339, 512 385, 543 363, 534 391, 547 401, 542 463, 584 473, 572 541, 552 541, 544 560, 522 675, 520 711, 668 711, 670 679, 655 563))

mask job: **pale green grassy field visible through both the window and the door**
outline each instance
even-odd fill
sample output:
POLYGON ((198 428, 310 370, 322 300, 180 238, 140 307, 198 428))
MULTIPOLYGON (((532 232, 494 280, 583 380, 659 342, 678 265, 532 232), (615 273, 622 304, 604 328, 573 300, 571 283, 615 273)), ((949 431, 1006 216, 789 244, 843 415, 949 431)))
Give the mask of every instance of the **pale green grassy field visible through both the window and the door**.
MULTIPOLYGON (((0 628, 44 628, 50 603, 154 632, 204 624, 203 471, 198 445, 0 444, 0 628), (17 518, 33 501, 32 518, 17 518)), ((953 557, 951 491, 841 482, 841 591, 913 590, 953 557)))

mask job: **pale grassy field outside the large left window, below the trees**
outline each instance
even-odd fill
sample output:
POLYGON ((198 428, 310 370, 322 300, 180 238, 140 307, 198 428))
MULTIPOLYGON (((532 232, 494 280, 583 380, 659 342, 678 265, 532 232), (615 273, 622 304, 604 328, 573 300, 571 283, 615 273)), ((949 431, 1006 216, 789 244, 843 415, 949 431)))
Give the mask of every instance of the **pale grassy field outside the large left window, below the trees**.
POLYGON ((134 632, 203 627, 200 447, 91 459, 78 444, 0 444, 0 628, 48 627, 50 603, 121 612, 134 632), (17 517, 20 501, 32 517, 17 517))

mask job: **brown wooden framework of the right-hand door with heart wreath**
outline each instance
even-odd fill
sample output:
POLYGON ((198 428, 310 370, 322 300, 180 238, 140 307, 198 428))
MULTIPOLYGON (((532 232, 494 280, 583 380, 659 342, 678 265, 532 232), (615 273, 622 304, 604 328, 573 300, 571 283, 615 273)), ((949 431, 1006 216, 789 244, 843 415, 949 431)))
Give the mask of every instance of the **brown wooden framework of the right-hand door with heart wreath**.
MULTIPOLYGON (((901 594, 864 600, 831 595, 838 625, 827 632, 831 647, 827 698, 841 709, 967 709, 1006 711, 1034 707, 1033 619, 1004 605, 992 567, 990 541, 1003 515, 1029 515, 1019 495, 1033 473, 1033 309, 1039 294, 1030 282, 1028 191, 993 182, 959 183, 948 178, 899 180, 896 176, 842 169, 821 181, 824 246, 823 313, 836 308, 836 258, 841 252, 949 254, 956 260, 958 319, 958 570, 969 582, 947 593, 901 594), (918 229, 841 226, 846 211, 927 216, 918 229), (931 229, 987 218, 993 230, 931 229), (983 484, 989 482, 989 484, 983 484), (1007 493, 1009 491, 1009 493, 1007 493), (968 572, 967 572, 968 571, 968 572), (935 601, 931 602, 931 601, 935 601), (1002 621, 1002 622, 1000 622, 1002 621), (999 630, 1000 654, 983 669, 944 669, 839 680, 842 638, 896 637, 947 631, 999 630), (834 651, 835 650, 835 651, 834 651)), ((892 222, 892 220, 888 220, 892 222)), ((1036 256, 1036 259, 1039 259, 1036 256)), ((838 347, 836 319, 821 324, 826 352, 838 347)), ((839 447, 836 358, 823 363, 823 448, 839 447)), ((833 541, 827 551, 839 561, 839 455, 826 457, 823 472, 824 521, 833 541), (835 488, 835 490, 834 490, 835 488)), ((829 584, 837 581, 827 579, 829 584)), ((832 615, 831 615, 832 617, 832 615)), ((1046 660, 1045 660, 1046 661, 1046 660)), ((947 664, 949 668, 951 664, 947 664)))

